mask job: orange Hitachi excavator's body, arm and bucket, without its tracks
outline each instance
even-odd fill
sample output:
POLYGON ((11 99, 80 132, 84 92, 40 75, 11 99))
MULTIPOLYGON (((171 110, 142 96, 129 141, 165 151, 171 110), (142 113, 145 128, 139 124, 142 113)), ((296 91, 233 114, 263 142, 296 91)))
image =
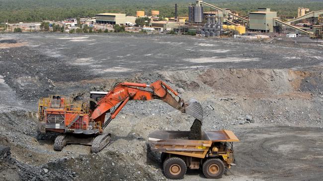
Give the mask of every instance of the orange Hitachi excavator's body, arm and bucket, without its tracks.
POLYGON ((41 98, 39 101, 40 132, 101 134, 103 129, 118 115, 129 100, 161 99, 182 113, 187 112, 193 117, 198 117, 197 119, 202 120, 203 113, 200 104, 198 106, 196 106, 197 104, 185 104, 178 96, 178 93, 162 81, 154 82, 151 85, 119 83, 106 94, 98 96, 96 99, 98 100, 92 100, 96 103, 92 107, 89 102, 76 102, 63 96, 41 98), (140 88, 150 88, 151 90, 140 88), (177 96, 178 99, 176 100, 169 91, 177 96), (111 115, 106 119, 109 112, 111 115))

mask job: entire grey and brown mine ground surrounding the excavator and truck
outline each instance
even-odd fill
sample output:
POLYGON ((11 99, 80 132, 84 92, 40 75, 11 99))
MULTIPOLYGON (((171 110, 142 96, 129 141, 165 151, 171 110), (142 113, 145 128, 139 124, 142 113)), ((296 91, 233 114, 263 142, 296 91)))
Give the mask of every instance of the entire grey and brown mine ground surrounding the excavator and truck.
MULTIPOLYGON (((116 82, 163 80, 204 109, 202 129, 232 130, 237 167, 219 181, 321 180, 323 51, 282 41, 186 36, 3 34, 0 37, 0 180, 166 180, 154 130, 190 130, 194 118, 160 100, 130 101, 105 132, 112 143, 53 150, 37 132, 37 101, 84 99, 116 82), (11 44, 11 45, 8 45, 11 44)), ((207 180, 188 171, 184 180, 207 180)))

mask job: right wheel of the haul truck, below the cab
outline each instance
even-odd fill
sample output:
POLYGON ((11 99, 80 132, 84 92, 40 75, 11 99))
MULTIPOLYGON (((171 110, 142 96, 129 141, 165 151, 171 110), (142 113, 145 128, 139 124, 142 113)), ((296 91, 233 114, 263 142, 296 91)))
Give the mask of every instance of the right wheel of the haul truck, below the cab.
POLYGON ((224 173, 225 166, 219 158, 208 159, 203 163, 203 174, 208 179, 220 179, 224 173))

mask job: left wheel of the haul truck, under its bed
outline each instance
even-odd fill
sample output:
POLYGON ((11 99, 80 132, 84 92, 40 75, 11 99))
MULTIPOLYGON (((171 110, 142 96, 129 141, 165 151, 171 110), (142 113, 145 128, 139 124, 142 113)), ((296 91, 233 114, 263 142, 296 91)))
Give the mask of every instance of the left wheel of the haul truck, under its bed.
POLYGON ((178 157, 172 157, 164 161, 163 171, 167 179, 183 179, 186 174, 186 164, 178 157))

